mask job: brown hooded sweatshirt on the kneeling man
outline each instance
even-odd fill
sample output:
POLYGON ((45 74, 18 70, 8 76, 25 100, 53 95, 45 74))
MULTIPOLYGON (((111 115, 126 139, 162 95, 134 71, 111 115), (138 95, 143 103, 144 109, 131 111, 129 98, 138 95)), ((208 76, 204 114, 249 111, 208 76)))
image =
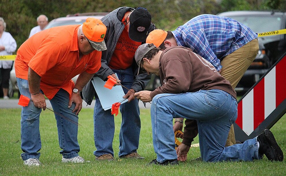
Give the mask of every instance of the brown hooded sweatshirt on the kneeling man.
MULTIPOLYGON (((159 73, 162 86, 151 92, 151 98, 160 93, 185 93, 199 90, 220 89, 234 98, 236 92, 228 80, 216 68, 190 48, 175 46, 164 50, 159 59, 159 73)), ((195 120, 185 121, 183 143, 191 145, 197 135, 195 120)))

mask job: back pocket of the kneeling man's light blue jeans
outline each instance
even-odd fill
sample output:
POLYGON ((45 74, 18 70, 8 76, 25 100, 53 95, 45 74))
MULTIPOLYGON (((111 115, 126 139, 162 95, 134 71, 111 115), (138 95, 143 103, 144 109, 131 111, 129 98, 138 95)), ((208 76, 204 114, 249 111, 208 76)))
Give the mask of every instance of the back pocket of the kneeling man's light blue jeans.
POLYGON ((207 104, 215 109, 220 108, 228 96, 228 93, 219 89, 208 90, 204 95, 207 104))

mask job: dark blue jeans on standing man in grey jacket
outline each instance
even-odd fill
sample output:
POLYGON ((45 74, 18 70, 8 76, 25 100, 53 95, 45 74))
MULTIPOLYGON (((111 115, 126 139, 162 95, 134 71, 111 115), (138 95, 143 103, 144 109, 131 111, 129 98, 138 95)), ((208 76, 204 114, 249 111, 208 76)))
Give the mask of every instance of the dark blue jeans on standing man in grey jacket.
MULTIPOLYGON (((131 88, 133 83, 133 71, 132 68, 126 70, 113 70, 117 75, 121 84, 131 88)), ((124 93, 128 92, 123 88, 124 93)), ((104 111, 99 98, 95 95, 94 106, 94 143, 96 151, 95 156, 101 156, 103 154, 112 154, 114 151, 112 148, 112 142, 114 138, 114 115, 111 115, 111 110, 104 111)), ((123 100, 123 98, 122 98, 123 100)), ((138 99, 135 98, 131 102, 126 102, 120 105, 120 112, 122 114, 122 122, 119 133, 119 153, 118 156, 125 156, 129 153, 136 152, 139 146, 139 135, 141 129, 140 111, 138 106, 138 99)))

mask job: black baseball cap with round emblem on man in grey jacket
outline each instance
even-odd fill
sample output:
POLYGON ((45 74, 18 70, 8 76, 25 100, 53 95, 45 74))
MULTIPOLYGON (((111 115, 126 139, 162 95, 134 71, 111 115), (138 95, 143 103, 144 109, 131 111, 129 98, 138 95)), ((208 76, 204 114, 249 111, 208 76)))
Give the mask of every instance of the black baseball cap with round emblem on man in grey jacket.
POLYGON ((150 12, 143 7, 138 7, 130 14, 129 22, 129 37, 137 42, 146 40, 151 25, 150 12))

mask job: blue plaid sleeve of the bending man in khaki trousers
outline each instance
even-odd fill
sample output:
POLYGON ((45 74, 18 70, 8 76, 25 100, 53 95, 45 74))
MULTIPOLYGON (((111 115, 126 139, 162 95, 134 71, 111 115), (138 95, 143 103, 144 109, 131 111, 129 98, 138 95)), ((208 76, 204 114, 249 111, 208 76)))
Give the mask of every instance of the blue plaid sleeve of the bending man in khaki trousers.
POLYGON ((189 31, 183 37, 185 37, 184 41, 187 47, 191 48, 195 53, 209 61, 217 70, 222 69, 220 59, 216 57, 215 53, 209 46, 209 42, 203 30, 199 29, 189 31))

